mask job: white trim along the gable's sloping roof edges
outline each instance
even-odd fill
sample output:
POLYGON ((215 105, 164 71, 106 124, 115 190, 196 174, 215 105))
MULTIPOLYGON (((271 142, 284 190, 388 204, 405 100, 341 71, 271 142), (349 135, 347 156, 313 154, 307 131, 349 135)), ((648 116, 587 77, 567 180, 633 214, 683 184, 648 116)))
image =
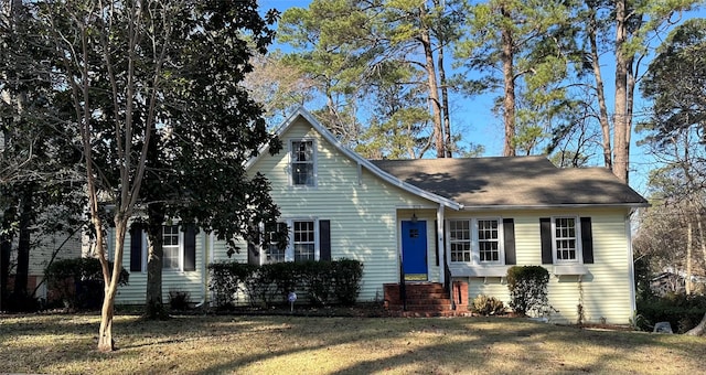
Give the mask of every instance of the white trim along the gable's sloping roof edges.
MULTIPOLYGON (((400 188, 402 190, 415 194, 417 196, 427 199, 431 202, 436 202, 442 206, 449 207, 449 208, 453 208, 453 210, 461 210, 463 208, 463 205, 454 202, 452 200, 446 199, 443 196, 430 193, 426 190, 419 189, 415 185, 408 184, 399 179, 397 179, 396 176, 381 170, 379 168, 375 167, 375 164, 371 163, 368 160, 366 160, 365 158, 361 157, 360 154, 357 154, 354 151, 349 150, 347 148, 345 148, 343 144, 341 144, 341 142, 335 139, 335 137, 333 136, 333 133, 331 133, 323 125, 321 125, 321 122, 319 122, 308 110, 306 110, 303 107, 299 107, 291 116, 289 116, 289 118, 287 118, 282 125, 279 126, 279 128, 277 128, 276 135, 279 137, 281 135, 284 135, 285 132, 287 132, 287 130, 289 130, 289 128, 295 124, 295 121, 297 120, 297 118, 301 116, 304 120, 307 120, 309 122, 309 125, 311 125, 311 127, 317 130, 321 137, 323 137, 329 143, 333 144, 341 153, 345 154, 346 157, 351 158, 353 161, 355 161, 359 167, 363 167, 365 169, 367 169, 368 171, 371 171, 374 175, 376 175, 377 178, 382 179, 383 181, 391 183, 395 186, 400 188)), ((250 167, 253 167, 253 164, 255 164, 255 162, 257 162, 257 160, 259 160, 259 158, 265 154, 266 152, 269 152, 269 144, 265 144, 264 147, 260 148, 257 157, 255 158, 250 158, 250 160, 248 160, 248 162, 245 164, 246 169, 250 169, 250 167)))

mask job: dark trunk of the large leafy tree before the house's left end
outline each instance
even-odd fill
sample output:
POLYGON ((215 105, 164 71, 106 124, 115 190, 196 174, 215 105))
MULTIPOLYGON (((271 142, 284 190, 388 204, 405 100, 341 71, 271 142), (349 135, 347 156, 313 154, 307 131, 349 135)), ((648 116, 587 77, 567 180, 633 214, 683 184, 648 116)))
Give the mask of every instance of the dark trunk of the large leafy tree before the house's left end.
POLYGON ((165 319, 168 313, 162 301, 162 266, 163 266, 163 226, 164 207, 161 203, 151 203, 148 208, 148 255, 147 255, 147 293, 145 317, 147 319, 165 319))

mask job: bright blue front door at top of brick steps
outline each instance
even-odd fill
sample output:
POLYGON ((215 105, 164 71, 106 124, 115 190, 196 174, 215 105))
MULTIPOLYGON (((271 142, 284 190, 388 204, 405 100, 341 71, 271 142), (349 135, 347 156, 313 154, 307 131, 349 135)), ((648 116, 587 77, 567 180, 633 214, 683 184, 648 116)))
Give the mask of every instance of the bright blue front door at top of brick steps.
POLYGON ((427 222, 402 222, 405 281, 427 281, 427 222))

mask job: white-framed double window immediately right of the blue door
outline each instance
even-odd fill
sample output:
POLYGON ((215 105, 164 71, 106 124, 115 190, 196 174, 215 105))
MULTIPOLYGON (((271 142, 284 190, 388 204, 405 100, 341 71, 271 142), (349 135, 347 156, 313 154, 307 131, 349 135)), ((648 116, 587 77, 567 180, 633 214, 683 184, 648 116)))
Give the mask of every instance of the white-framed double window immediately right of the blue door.
POLYGON ((501 223, 499 218, 449 221, 451 262, 503 264, 501 223))

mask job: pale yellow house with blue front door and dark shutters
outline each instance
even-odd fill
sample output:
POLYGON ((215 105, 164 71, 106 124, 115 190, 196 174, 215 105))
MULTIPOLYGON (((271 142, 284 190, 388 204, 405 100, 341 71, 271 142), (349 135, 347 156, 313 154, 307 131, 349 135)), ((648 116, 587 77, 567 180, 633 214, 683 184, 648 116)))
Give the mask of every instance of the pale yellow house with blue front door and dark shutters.
MULTIPOLYGON (((579 304, 584 321, 632 318, 630 216, 648 203, 610 171, 557 169, 543 157, 368 161, 303 109, 278 135, 284 150, 263 149, 247 168, 271 182, 289 245, 242 250, 235 260, 353 258, 364 265, 362 301, 382 301, 383 286, 404 274, 408 282, 467 282, 464 301, 488 294, 505 303, 507 268, 542 265, 554 321, 576 321, 579 304)), ((164 296, 207 300, 206 266, 228 259, 225 244, 168 233, 164 296)), ((127 243, 130 285, 118 302, 143 303, 146 242, 127 243)))

